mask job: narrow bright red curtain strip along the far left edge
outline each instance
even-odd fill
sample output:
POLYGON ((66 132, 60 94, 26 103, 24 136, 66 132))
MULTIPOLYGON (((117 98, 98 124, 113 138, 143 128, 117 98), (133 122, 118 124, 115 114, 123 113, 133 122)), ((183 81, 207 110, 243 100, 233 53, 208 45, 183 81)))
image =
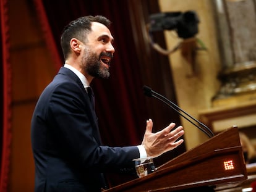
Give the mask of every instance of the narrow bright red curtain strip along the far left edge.
POLYGON ((0 191, 7 191, 11 154, 11 64, 9 62, 9 23, 7 0, 0 0, 1 31, 1 175, 0 191))

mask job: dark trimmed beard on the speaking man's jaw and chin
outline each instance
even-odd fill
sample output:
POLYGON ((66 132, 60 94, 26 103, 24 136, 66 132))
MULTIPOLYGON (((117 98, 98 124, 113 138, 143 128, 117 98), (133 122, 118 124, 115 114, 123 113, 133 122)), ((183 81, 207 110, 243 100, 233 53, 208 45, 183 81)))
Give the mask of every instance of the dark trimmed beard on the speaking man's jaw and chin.
POLYGON ((100 56, 87 50, 82 58, 82 65, 88 75, 98 78, 109 78, 109 69, 101 64, 100 56))

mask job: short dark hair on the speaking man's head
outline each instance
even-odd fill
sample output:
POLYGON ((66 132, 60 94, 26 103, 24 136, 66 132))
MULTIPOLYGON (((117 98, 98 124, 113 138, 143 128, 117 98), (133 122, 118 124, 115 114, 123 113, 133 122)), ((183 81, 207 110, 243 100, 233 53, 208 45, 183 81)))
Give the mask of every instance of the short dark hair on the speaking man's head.
POLYGON ((86 36, 88 32, 92 30, 92 22, 102 23, 106 27, 110 27, 110 20, 106 19, 106 17, 102 15, 96 15, 95 17, 92 15, 79 17, 76 20, 70 22, 62 31, 61 35, 61 48, 64 54, 64 59, 70 53, 70 40, 72 38, 77 38, 77 40, 82 41, 86 40, 86 36))

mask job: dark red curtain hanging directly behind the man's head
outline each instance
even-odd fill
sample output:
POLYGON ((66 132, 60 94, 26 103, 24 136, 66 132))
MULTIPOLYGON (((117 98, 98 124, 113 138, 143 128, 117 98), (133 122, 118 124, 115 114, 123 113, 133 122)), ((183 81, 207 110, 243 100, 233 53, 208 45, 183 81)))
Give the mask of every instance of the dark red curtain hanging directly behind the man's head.
MULTIPOLYGON (((99 117, 103 143, 111 146, 140 144, 148 118, 139 59, 135 52, 129 0, 51 1, 35 0, 40 22, 54 58, 61 58, 60 35, 71 20, 83 15, 105 15, 113 22, 116 48, 111 77, 93 80, 96 113, 99 117), (49 42, 51 41, 51 42, 49 42), (58 50, 58 51, 56 51, 58 50)), ((63 60, 56 59, 58 68, 63 60)))

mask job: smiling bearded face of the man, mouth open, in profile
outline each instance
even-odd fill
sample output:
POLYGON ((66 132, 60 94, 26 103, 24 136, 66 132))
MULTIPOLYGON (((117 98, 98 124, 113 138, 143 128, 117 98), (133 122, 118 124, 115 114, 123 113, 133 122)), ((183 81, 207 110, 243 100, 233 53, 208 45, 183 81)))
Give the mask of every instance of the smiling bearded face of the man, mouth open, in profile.
POLYGON ((111 59, 113 59, 113 36, 109 29, 97 22, 92 23, 82 56, 85 73, 92 77, 108 78, 111 59))

